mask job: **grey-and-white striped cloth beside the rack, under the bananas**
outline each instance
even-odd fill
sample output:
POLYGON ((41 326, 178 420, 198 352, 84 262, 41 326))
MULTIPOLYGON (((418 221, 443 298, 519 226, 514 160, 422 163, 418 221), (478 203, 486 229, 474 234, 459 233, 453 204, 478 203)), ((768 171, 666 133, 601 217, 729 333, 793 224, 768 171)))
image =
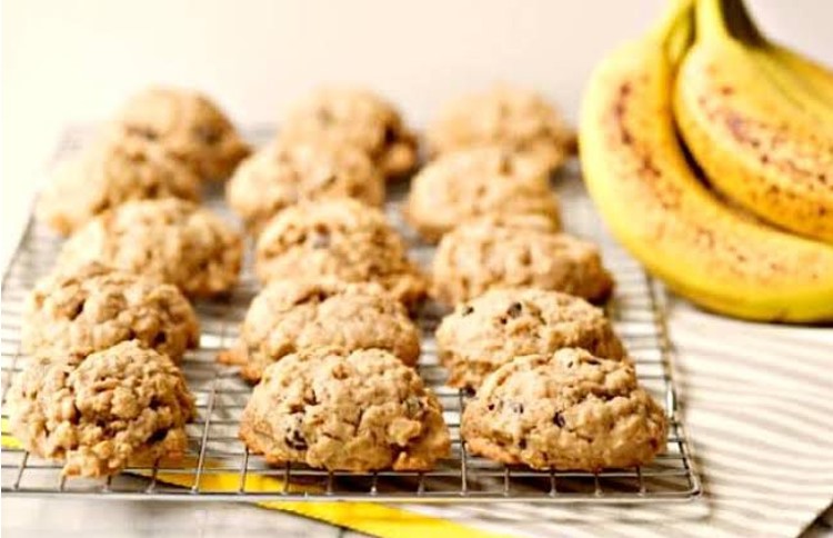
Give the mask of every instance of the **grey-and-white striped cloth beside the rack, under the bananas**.
POLYGON ((833 329, 747 323, 673 299, 670 315, 701 500, 411 508, 518 536, 802 534, 833 500, 833 329))

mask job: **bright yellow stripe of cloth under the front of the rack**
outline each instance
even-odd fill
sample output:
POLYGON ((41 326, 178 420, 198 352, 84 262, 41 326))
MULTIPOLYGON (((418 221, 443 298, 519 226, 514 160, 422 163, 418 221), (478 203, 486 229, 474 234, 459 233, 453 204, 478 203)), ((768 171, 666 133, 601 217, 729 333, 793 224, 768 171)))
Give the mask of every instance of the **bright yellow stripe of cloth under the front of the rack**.
MULTIPOLYGON (((22 449, 20 442, 9 434, 7 419, 2 420, 2 434, 3 448, 22 449)), ((195 460, 190 462, 194 467, 197 466, 195 460)), ((217 467, 217 465, 215 462, 207 461, 204 467, 212 468, 217 467)), ((150 476, 150 471, 131 471, 131 474, 150 476)), ((183 488, 193 487, 195 479, 197 477, 193 472, 173 472, 160 468, 157 474, 158 481, 183 488)), ((234 494, 240 490, 240 475, 237 472, 202 474, 200 476, 200 488, 211 490, 212 492, 234 494)), ((244 490, 251 492, 281 491, 283 490, 283 480, 261 475, 247 475, 244 490)), ((299 485, 290 485, 289 490, 293 492, 320 491, 318 488, 299 485)), ((348 527, 360 532, 384 538, 494 538, 505 536, 379 502, 280 500, 261 501, 257 502, 257 505, 270 510, 298 514, 331 525, 348 527)))

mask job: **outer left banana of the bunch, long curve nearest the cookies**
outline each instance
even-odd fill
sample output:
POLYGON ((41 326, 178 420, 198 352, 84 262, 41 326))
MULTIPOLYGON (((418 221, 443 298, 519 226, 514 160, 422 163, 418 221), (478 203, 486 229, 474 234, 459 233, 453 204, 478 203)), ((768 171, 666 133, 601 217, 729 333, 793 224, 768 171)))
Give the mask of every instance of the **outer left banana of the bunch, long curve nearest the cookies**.
POLYGON ((580 152, 596 207, 650 272, 706 309, 756 320, 833 319, 833 247, 737 215, 690 168, 674 129, 674 66, 664 46, 691 2, 676 9, 604 59, 585 90, 580 152))

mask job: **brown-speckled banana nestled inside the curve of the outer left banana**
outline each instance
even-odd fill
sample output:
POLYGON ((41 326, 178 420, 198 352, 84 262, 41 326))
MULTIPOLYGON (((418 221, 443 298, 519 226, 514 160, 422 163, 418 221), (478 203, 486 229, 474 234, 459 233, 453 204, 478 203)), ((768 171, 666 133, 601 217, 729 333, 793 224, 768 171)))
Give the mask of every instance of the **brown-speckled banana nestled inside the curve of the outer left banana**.
POLYGON ((686 146, 714 188, 762 219, 833 242, 833 129, 796 110, 727 31, 739 0, 700 0, 675 82, 686 146))

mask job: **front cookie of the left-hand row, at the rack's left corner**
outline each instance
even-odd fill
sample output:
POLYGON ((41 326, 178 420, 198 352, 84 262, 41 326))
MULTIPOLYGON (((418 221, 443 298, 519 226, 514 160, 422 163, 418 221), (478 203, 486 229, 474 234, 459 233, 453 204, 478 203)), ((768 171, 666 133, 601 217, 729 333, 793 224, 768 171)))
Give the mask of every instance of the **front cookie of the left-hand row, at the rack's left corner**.
POLYGON ((121 342, 77 358, 34 358, 7 400, 11 432, 64 476, 116 475, 128 465, 180 458, 194 400, 164 355, 121 342))

